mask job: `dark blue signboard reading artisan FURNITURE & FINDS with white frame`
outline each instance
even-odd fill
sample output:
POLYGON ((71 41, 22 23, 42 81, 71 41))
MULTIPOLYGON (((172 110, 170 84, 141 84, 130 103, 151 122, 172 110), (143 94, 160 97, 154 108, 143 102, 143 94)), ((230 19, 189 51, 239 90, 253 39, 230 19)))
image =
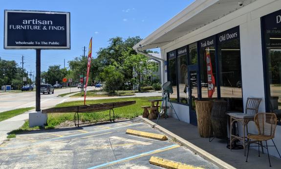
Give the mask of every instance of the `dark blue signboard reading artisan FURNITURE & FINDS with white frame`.
POLYGON ((70 13, 5 10, 4 48, 70 49, 70 13))

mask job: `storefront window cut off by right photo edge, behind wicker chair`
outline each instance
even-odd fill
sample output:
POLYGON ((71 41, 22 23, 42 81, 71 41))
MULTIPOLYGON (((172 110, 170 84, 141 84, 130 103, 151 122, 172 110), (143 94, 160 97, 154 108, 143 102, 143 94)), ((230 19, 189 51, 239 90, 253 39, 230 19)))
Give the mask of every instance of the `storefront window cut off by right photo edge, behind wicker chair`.
MULTIPOLYGON (((281 10, 262 17, 267 109, 281 120, 281 10)), ((281 123, 281 121, 279 122, 281 123)))

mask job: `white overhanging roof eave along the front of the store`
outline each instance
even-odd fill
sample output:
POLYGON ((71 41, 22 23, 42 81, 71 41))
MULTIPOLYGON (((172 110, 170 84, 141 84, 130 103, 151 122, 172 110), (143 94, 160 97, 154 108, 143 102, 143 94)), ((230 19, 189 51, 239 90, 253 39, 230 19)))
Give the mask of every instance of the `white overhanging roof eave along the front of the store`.
POLYGON ((195 0, 133 48, 138 50, 161 48, 253 1, 255 0, 195 0), (238 2, 243 3, 240 5, 238 2))

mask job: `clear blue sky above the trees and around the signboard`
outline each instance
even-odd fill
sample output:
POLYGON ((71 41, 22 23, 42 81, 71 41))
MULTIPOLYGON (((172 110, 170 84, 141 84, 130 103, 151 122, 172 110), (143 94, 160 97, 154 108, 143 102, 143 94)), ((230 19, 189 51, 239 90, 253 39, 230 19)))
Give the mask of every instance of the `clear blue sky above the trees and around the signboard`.
MULTIPOLYGON (((35 50, 3 49, 4 9, 70 12, 71 49, 42 50, 41 71, 51 65, 68 67, 67 61, 83 55, 93 37, 92 56, 99 48, 108 46, 108 39, 116 36, 145 38, 152 31, 173 18, 194 0, 1 0, 0 57, 16 60, 24 68, 35 71, 35 50), (1 12, 2 11, 2 12, 1 12)), ((87 53, 87 52, 86 52, 87 53)), ((21 66, 21 65, 20 65, 21 66)))

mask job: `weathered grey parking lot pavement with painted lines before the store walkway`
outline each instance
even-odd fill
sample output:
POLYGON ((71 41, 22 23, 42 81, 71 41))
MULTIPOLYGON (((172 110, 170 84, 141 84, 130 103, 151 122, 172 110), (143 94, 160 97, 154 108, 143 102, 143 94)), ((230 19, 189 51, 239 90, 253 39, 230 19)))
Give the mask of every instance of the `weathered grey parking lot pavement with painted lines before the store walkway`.
POLYGON ((139 121, 32 131, 0 145, 0 169, 159 169, 149 164, 151 156, 218 169, 170 138, 132 136, 126 129, 162 134, 139 121))

